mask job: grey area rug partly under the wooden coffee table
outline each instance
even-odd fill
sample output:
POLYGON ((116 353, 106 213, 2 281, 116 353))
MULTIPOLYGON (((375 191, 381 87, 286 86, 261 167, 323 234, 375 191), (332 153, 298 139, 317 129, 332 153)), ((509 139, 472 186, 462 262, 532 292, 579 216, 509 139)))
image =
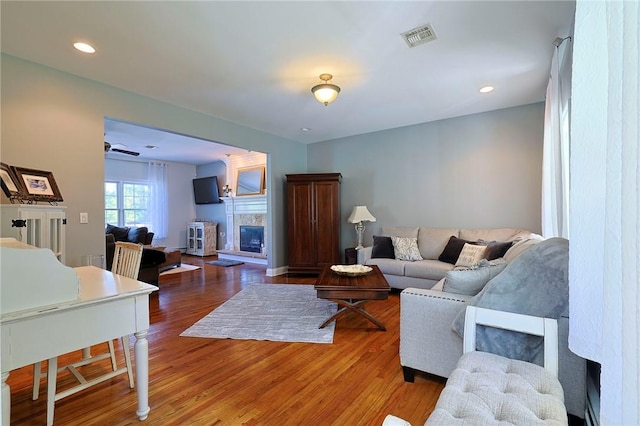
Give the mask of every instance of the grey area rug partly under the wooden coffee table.
POLYGON ((335 321, 318 328, 337 305, 312 285, 254 284, 185 330, 184 337, 333 343, 335 321))

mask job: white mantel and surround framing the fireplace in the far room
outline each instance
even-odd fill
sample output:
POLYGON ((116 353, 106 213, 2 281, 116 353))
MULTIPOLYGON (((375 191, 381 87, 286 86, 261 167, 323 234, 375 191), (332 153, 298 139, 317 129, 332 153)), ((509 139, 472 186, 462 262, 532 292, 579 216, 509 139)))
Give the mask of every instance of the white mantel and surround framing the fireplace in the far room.
MULTIPOLYGON (((247 262, 252 263, 263 263, 266 264, 266 253, 262 255, 258 255, 259 258, 256 258, 256 253, 247 252, 244 255, 244 252, 239 250, 239 247, 236 247, 236 232, 238 232, 237 228, 237 219, 238 216, 242 215, 265 215, 267 214, 267 196, 266 195, 242 195, 240 197, 223 197, 222 201, 225 204, 225 214, 227 217, 227 228, 226 228, 226 237, 225 237, 225 250, 226 252, 233 252, 236 256, 233 258, 238 260, 237 256, 246 257, 243 259, 247 262)), ((266 222, 266 220, 265 220, 266 222)), ((242 222, 240 222, 242 223, 242 222)), ((265 236, 267 233, 267 229, 265 226, 265 236)), ((229 257, 230 253, 218 253, 218 256, 221 258, 231 258, 229 257)))

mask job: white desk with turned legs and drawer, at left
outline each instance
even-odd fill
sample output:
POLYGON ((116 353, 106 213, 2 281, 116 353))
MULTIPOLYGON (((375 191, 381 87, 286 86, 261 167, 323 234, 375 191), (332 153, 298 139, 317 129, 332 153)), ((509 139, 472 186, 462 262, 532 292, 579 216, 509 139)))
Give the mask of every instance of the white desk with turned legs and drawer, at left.
POLYGON ((136 414, 140 420, 145 420, 149 414, 149 348, 146 336, 149 294, 158 288, 95 266, 74 270, 80 278, 77 299, 3 313, 0 317, 3 425, 9 425, 10 419, 11 393, 7 378, 11 370, 38 361, 49 361, 47 418, 52 423, 56 357, 129 334, 134 334, 137 339, 134 345, 136 414))

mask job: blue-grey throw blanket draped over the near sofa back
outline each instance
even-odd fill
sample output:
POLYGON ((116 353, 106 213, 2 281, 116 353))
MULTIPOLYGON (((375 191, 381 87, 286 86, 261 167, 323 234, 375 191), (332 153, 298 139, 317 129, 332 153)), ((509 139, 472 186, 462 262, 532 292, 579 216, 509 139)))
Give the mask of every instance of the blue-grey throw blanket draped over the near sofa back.
MULTIPOLYGON (((550 238, 511 262, 469 305, 558 319, 569 304, 569 241, 550 238)), ((453 327, 462 337, 465 309, 453 327)), ((476 347, 511 359, 540 363, 542 338, 478 327, 476 347)))

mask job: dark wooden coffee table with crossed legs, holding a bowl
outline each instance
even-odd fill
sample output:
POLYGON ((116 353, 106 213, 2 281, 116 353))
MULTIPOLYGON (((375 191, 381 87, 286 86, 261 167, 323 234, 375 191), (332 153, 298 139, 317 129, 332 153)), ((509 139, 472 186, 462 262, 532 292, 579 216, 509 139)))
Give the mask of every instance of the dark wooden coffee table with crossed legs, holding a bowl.
POLYGON ((373 269, 366 275, 358 277, 346 277, 338 275, 331 270, 331 266, 325 266, 316 281, 315 289, 320 299, 329 299, 336 302, 341 308, 319 328, 326 327, 331 321, 335 321, 340 315, 351 311, 361 315, 374 323, 379 329, 386 331, 376 317, 364 310, 364 304, 369 300, 386 300, 391 287, 380 272, 380 268, 371 265, 373 269))

